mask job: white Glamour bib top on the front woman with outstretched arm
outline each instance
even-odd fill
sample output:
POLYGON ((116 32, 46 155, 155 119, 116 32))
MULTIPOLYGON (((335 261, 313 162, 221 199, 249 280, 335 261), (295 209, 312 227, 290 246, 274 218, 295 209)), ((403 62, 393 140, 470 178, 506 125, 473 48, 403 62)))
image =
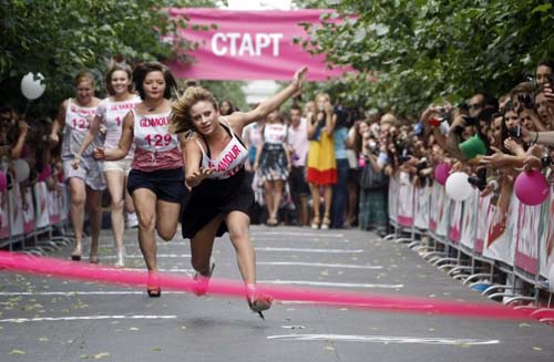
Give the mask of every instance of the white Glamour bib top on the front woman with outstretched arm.
POLYGON ((216 159, 209 158, 207 153, 204 151, 204 147, 198 142, 198 139, 194 138, 198 144, 198 146, 201 147, 202 167, 215 168, 215 172, 208 176, 208 178, 213 179, 229 178, 230 176, 235 175, 240 170, 246 159, 248 158, 248 149, 245 147, 243 142, 235 135, 227 120, 225 117, 222 117, 222 121, 223 121, 222 125, 230 134, 232 138, 216 159))

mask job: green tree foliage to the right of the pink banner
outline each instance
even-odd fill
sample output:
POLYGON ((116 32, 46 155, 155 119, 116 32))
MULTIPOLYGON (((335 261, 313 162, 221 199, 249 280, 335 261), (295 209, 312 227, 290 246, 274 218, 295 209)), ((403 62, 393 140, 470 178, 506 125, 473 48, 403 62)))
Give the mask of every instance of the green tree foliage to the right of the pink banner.
MULTIPOLYGON (((336 97, 366 107, 417 113, 431 102, 475 92, 501 95, 533 75, 554 52, 550 0, 296 1, 335 8, 307 27, 307 49, 350 64, 358 76, 336 81, 336 97)), ((329 87, 329 84, 325 85, 329 87)))

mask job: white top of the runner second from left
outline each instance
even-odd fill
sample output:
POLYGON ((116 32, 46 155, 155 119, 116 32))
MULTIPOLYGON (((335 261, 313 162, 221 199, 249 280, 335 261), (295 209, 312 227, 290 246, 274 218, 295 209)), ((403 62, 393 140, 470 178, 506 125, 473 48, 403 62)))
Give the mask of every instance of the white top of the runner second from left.
MULTIPOLYGON (((135 95, 130 100, 115 102, 110 97, 102 100, 96 110, 96 115, 102 120, 106 127, 104 148, 113 149, 117 147, 123 130, 123 120, 129 111, 141 103, 141 97, 135 95)), ((125 158, 132 158, 133 152, 130 151, 125 158)))

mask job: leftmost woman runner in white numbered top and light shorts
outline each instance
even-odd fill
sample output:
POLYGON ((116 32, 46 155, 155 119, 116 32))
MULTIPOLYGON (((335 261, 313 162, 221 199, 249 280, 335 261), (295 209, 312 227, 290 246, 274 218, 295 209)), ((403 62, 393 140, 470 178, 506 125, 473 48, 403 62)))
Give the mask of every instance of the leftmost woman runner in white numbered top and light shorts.
POLYGON ((76 97, 64 101, 52 124, 50 141, 60 141, 59 132, 63 128, 62 162, 65 182, 71 193, 71 224, 75 240, 71 258, 81 260, 85 205, 91 220, 90 262, 98 262, 98 245, 102 221, 101 197, 105 187, 101 164, 92 158, 92 147, 83 151, 80 166, 71 166, 74 155, 89 131, 89 120, 94 116, 100 100, 94 96, 94 77, 90 72, 82 72, 75 79, 76 97))

